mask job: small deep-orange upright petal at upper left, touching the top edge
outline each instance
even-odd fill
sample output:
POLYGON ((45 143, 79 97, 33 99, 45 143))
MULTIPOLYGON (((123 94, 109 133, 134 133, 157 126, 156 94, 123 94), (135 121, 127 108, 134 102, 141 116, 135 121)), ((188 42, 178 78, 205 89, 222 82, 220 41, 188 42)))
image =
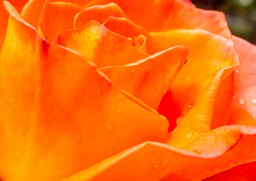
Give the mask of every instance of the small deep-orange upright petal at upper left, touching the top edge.
POLYGON ((73 19, 82 8, 76 4, 46 1, 38 22, 38 33, 52 42, 66 29, 73 28, 73 19), (56 13, 58 12, 58 13, 56 13))

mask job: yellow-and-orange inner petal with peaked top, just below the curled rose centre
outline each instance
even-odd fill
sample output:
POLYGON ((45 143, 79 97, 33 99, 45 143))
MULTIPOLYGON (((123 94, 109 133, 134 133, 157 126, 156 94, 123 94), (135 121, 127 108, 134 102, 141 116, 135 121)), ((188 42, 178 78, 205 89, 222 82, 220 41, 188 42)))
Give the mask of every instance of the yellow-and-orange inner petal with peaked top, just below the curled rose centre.
POLYGON ((82 53, 98 67, 125 65, 148 56, 125 37, 110 32, 96 21, 63 32, 59 44, 82 53))

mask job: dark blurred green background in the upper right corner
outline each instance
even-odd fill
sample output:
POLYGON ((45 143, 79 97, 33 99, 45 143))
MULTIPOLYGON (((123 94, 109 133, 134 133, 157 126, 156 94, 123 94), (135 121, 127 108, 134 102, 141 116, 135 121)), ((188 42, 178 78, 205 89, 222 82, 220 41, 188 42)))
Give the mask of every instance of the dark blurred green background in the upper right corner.
POLYGON ((198 8, 224 12, 232 34, 256 44, 256 0, 191 0, 191 2, 198 8))

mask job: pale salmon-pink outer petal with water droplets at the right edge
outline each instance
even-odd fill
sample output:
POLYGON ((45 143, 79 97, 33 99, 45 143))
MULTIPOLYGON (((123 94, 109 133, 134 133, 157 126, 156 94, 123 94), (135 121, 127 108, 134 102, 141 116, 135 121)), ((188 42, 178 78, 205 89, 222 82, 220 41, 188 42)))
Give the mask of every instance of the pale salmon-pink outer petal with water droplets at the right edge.
POLYGON ((256 46, 233 36, 239 56, 239 66, 235 71, 235 99, 256 119, 256 46))

